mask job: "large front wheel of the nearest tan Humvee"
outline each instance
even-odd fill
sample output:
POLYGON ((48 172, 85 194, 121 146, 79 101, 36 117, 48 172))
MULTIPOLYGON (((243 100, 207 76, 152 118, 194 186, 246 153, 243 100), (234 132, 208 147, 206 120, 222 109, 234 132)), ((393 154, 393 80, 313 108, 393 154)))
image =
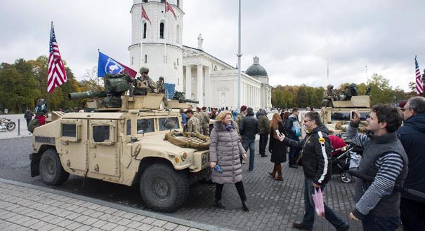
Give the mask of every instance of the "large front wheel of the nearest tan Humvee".
POLYGON ((140 195, 150 209, 176 211, 188 198, 189 181, 183 172, 155 163, 145 169, 140 178, 140 195))

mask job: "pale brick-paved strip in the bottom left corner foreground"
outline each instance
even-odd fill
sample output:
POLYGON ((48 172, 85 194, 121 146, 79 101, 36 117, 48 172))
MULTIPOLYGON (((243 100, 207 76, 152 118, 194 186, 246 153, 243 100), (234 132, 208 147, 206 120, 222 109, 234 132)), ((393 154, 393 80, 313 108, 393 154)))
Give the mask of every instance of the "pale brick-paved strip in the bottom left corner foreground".
POLYGON ((0 179, 0 230, 226 230, 58 190, 0 179))

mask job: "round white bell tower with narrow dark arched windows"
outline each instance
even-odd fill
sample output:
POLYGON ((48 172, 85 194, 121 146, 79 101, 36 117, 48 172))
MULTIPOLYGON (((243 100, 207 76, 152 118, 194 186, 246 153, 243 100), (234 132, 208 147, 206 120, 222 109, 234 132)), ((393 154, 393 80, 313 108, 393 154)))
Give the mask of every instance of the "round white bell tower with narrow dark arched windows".
POLYGON ((166 11, 165 2, 133 0, 130 64, 136 71, 148 67, 150 78, 157 81, 164 76, 166 83, 174 83, 176 90, 183 91, 183 0, 167 0, 176 17, 171 10, 166 11), (142 18, 142 6, 150 22, 142 18))

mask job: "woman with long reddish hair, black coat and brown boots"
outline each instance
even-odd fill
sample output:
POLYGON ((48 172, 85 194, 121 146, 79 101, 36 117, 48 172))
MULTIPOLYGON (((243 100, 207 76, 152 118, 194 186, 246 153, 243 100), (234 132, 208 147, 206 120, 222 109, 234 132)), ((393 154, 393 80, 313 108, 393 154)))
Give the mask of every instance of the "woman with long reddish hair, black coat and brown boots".
POLYGON ((269 172, 270 176, 276 181, 283 181, 282 178, 282 162, 287 161, 287 147, 283 142, 279 141, 276 130, 279 130, 279 134, 287 134, 285 126, 282 123, 282 118, 278 113, 273 114, 272 123, 270 125, 270 141, 268 143, 268 151, 272 153, 270 162, 273 162, 273 172, 269 172), (277 176, 276 176, 277 174, 277 176))

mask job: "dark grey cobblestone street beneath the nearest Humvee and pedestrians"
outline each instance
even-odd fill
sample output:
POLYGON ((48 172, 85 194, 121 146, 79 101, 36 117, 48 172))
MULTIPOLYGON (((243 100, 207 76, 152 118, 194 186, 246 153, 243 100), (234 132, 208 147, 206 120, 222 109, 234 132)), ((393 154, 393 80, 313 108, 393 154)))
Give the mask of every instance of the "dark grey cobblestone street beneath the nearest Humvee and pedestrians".
MULTIPOLYGON (((33 185, 44 186, 39 176, 30 177, 28 154, 32 150, 30 137, 17 139, 0 139, 0 178, 11 179, 33 185)), ((256 141, 258 151, 258 140, 256 141)), ((182 209, 168 214, 209 225, 233 230, 292 230, 292 223, 301 221, 303 216, 303 170, 290 169, 287 163, 282 165, 284 181, 274 181, 268 175, 272 168, 270 153, 268 158, 255 156, 254 172, 248 172, 243 166, 244 186, 247 192, 250 211, 242 211, 242 204, 234 186, 226 185, 223 190, 223 203, 226 209, 214 209, 214 185, 195 183, 190 187, 188 202, 182 209)), ((143 209, 138 187, 127 187, 71 176, 63 186, 52 187, 58 190, 84 195, 107 202, 115 202, 133 209, 143 209)), ((342 183, 339 175, 332 176, 332 181, 325 190, 325 202, 334 209, 344 221, 353 209, 353 184, 342 183)), ((362 230, 361 224, 348 221, 351 230, 362 230)), ((315 230, 335 230, 330 223, 317 217, 315 230)))

